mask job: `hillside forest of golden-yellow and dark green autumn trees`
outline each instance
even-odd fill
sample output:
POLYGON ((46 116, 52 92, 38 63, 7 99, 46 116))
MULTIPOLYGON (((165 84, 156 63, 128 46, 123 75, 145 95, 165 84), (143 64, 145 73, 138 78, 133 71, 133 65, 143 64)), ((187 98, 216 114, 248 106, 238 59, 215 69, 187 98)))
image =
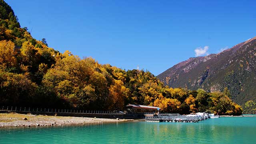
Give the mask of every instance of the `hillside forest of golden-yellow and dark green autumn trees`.
POLYGON ((20 28, 0 0, 0 105, 122 110, 128 103, 159 106, 163 112, 239 115, 228 90, 207 93, 164 86, 143 70, 122 70, 48 47, 20 28))

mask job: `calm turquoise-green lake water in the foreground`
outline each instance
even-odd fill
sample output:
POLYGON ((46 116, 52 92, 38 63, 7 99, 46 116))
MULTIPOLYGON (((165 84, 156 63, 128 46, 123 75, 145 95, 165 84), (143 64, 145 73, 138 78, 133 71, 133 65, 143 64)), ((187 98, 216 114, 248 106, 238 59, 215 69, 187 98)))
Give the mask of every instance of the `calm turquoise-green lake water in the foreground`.
POLYGON ((256 117, 0 128, 0 144, 256 144, 256 117))

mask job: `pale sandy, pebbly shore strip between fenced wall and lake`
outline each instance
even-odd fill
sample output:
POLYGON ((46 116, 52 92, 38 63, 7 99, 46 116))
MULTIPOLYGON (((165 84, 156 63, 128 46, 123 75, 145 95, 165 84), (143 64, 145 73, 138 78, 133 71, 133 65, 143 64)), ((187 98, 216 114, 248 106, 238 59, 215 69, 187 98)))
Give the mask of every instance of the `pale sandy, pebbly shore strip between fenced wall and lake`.
POLYGON ((105 122, 124 122, 126 119, 85 118, 71 116, 43 116, 32 114, 0 114, 0 127, 6 126, 63 126, 105 122), (25 119, 25 120, 24 120, 25 119), (27 120, 26 120, 27 119, 27 120))

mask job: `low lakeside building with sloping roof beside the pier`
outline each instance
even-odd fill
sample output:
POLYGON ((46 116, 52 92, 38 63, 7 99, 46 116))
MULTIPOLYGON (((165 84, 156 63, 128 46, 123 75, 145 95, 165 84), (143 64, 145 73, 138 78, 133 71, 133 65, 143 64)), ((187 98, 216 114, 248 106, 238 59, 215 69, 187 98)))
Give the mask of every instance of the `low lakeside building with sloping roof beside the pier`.
POLYGON ((158 113, 161 108, 156 106, 144 106, 138 104, 127 104, 126 108, 132 113, 158 113))

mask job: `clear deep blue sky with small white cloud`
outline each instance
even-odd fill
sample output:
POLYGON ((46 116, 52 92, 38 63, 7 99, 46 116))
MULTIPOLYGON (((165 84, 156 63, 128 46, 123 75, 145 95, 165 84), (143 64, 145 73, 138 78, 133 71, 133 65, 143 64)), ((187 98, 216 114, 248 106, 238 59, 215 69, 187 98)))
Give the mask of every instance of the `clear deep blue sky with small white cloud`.
POLYGON ((60 52, 164 72, 256 36, 255 0, 5 0, 60 52))

